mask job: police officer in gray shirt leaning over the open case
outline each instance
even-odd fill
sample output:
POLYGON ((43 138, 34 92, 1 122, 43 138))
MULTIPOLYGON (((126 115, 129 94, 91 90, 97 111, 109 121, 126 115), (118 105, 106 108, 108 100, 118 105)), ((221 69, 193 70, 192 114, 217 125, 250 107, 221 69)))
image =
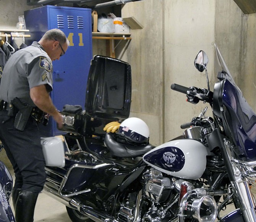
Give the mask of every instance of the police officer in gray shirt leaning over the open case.
POLYGON ((14 53, 7 61, 0 85, 0 140, 15 172, 13 204, 17 222, 34 221, 37 196, 42 191, 46 175, 37 122, 29 115, 23 129, 16 127, 19 109, 12 101, 18 99, 24 107, 35 107, 48 113, 62 127, 62 115, 49 96, 52 91, 52 61, 59 60, 69 45, 65 34, 51 29, 39 42, 14 53), (10 112, 12 111, 12 112, 10 112))

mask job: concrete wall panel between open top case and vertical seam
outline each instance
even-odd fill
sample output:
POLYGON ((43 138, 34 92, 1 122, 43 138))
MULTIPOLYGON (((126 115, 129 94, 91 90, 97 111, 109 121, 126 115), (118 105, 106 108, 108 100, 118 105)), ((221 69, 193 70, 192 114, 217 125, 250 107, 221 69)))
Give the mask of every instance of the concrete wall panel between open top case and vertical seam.
POLYGON ((131 64, 130 116, 139 117, 149 125, 153 144, 160 144, 163 138, 164 7, 162 0, 126 4, 122 17, 134 16, 144 28, 132 30, 128 47, 118 48, 123 49, 118 58, 131 64))

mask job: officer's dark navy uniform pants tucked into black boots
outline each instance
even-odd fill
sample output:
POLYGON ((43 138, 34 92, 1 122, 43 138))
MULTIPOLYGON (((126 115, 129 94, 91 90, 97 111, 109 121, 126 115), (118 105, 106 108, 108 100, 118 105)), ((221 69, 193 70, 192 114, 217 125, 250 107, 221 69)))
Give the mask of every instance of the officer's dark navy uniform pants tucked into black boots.
POLYGON ((14 188, 40 192, 46 174, 40 134, 36 122, 29 117, 24 131, 14 128, 14 117, 0 111, 0 140, 15 172, 14 188))

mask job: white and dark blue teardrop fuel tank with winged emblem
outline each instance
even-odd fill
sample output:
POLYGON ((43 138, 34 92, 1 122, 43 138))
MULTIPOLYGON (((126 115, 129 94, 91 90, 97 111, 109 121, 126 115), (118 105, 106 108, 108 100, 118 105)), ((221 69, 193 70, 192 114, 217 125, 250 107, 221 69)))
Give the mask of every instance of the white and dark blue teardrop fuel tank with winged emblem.
POLYGON ((174 177, 199 179, 206 168, 207 147, 198 140, 172 140, 143 156, 149 166, 174 177))

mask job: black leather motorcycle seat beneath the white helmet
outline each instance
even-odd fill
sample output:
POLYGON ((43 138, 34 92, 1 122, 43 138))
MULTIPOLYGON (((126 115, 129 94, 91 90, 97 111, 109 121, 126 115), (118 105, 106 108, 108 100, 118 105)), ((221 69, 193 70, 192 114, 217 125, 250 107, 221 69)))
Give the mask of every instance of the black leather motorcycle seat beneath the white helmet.
POLYGON ((107 146, 113 156, 134 158, 143 156, 145 153, 155 148, 155 146, 150 143, 140 145, 121 143, 117 141, 115 136, 116 134, 107 133, 104 140, 105 146, 107 146))

